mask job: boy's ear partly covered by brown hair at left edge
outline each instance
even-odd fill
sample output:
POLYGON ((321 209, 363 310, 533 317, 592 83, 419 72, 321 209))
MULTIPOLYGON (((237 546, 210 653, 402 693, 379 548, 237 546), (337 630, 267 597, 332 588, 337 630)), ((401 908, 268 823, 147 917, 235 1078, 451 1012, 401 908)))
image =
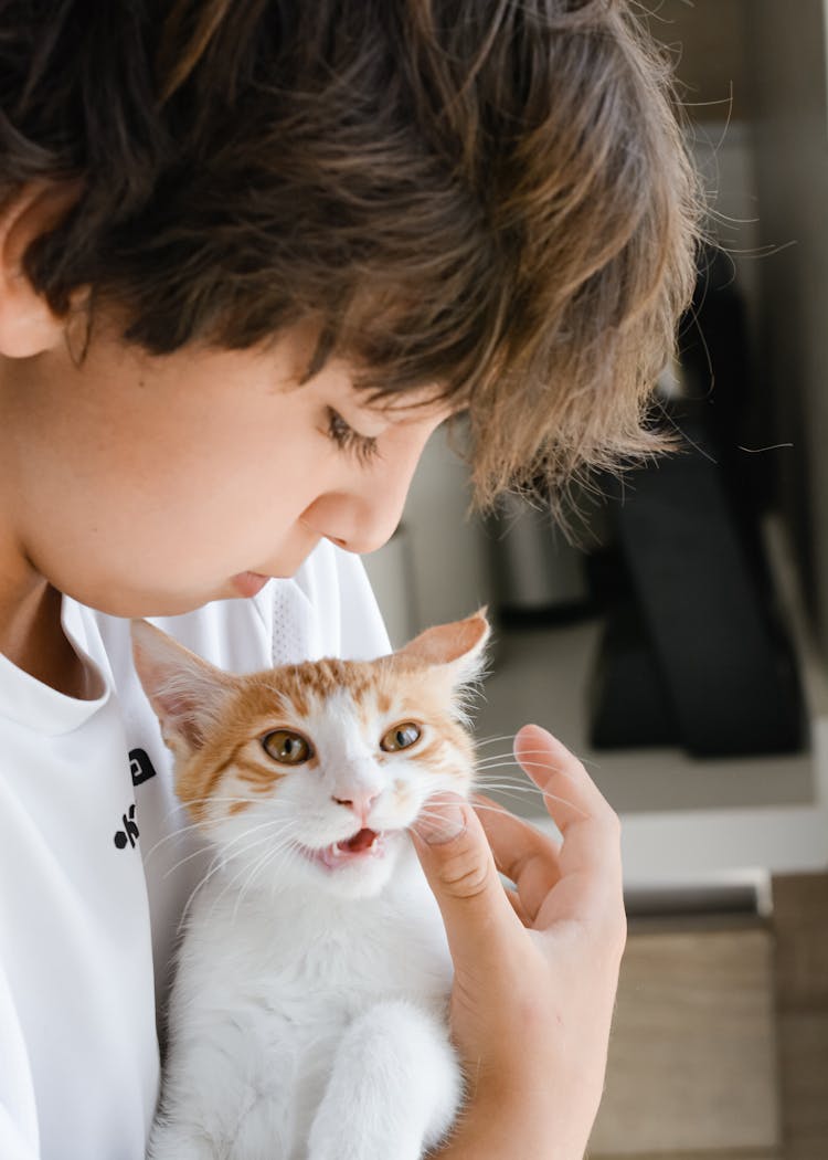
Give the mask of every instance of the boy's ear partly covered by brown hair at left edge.
POLYGON ((37 293, 23 270, 27 249, 77 201, 75 182, 31 182, 0 208, 0 355, 27 358, 60 341, 65 319, 37 293))

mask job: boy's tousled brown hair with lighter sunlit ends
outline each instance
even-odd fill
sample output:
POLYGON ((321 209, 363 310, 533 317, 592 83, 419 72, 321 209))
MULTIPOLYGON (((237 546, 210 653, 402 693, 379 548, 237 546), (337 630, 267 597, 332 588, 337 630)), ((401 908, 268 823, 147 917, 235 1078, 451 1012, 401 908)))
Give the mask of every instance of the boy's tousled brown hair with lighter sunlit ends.
POLYGON ((663 445, 695 281, 669 71, 619 0, 0 0, 0 191, 81 194, 26 255, 164 355, 314 319, 378 397, 471 418, 477 496, 663 445))

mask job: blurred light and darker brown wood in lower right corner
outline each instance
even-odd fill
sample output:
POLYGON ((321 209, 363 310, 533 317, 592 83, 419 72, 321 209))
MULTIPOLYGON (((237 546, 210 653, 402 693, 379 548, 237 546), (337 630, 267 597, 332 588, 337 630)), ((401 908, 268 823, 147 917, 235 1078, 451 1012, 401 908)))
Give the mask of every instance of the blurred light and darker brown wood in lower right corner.
POLYGON ((828 1160, 828 875, 633 925, 590 1160, 828 1160))

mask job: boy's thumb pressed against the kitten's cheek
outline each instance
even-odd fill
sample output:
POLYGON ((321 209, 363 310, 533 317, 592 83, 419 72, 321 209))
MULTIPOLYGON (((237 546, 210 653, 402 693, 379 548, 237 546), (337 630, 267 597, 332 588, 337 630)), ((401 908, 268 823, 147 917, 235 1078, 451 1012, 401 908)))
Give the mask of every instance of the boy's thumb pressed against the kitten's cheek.
POLYGON ((455 970, 497 959, 499 936, 510 935, 517 919, 472 806, 457 793, 430 798, 412 838, 443 915, 455 970))

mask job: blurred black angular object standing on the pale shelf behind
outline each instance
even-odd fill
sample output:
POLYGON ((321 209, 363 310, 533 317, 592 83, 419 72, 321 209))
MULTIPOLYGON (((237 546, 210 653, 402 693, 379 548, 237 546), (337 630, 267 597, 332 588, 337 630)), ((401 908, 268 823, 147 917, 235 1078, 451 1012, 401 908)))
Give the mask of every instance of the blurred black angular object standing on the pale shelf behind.
POLYGON ((797 751, 797 668, 757 539, 700 425, 681 426, 696 448, 632 473, 617 508, 638 615, 629 604, 609 614, 593 744, 671 742, 709 757, 797 751))

